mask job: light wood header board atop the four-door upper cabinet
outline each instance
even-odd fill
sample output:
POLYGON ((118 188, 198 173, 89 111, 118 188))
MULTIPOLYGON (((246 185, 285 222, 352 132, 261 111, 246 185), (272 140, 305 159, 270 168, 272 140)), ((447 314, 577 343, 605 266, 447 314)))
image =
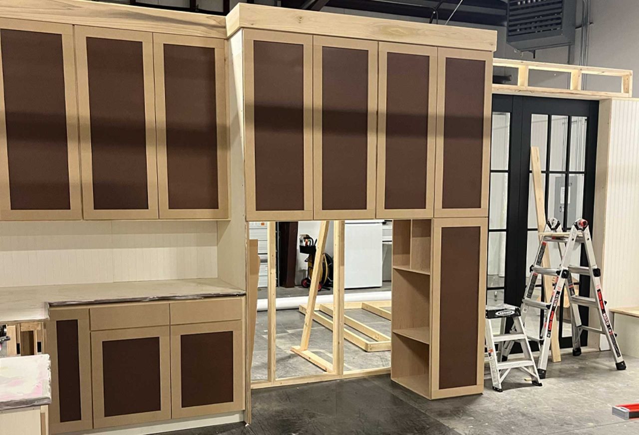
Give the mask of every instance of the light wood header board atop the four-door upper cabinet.
POLYGON ((436 47, 489 52, 497 49, 497 32, 492 30, 238 3, 226 16, 227 36, 246 28, 420 45, 427 41, 436 47))

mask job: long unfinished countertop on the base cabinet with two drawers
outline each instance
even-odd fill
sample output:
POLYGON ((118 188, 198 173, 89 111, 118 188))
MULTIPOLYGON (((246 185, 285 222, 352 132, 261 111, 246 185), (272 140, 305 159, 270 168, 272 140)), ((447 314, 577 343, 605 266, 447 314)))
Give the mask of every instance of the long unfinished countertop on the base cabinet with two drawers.
POLYGON ((218 278, 0 287, 0 323, 47 320, 49 307, 241 295, 218 278))

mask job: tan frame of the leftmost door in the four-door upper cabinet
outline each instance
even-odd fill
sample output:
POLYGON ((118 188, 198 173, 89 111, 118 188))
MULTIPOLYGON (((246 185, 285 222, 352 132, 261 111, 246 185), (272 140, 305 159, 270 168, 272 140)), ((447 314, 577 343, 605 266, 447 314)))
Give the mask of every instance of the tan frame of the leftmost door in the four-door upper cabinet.
MULTIPOLYGON (((304 221, 313 218, 313 114, 312 114, 312 36, 244 29, 242 34, 243 51, 243 93, 244 93, 244 171, 246 185, 247 221, 304 221), (304 210, 256 210, 256 173, 255 173, 255 76, 254 41, 269 41, 302 45, 304 50, 304 210)), ((279 174, 273 172, 273 177, 279 174)))

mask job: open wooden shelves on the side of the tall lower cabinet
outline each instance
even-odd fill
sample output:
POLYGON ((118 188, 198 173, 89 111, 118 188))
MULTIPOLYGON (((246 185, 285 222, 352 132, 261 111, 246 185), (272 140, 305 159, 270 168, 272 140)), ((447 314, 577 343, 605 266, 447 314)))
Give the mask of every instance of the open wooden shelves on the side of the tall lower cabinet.
POLYGON ((431 397, 431 219, 393 221, 391 372, 431 397))

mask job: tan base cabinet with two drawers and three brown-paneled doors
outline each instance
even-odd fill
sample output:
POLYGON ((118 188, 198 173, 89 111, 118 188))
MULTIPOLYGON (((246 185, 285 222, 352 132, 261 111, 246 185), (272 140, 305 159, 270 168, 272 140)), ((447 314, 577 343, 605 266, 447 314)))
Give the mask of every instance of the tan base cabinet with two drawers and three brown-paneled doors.
POLYGON ((245 408, 243 297, 52 308, 51 432, 245 408))

